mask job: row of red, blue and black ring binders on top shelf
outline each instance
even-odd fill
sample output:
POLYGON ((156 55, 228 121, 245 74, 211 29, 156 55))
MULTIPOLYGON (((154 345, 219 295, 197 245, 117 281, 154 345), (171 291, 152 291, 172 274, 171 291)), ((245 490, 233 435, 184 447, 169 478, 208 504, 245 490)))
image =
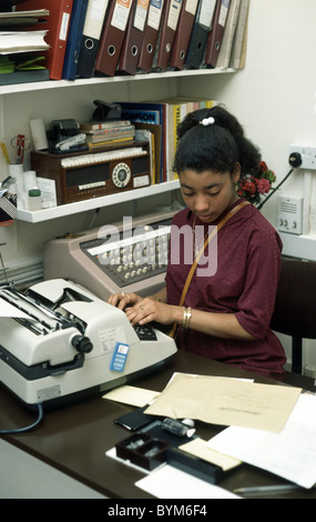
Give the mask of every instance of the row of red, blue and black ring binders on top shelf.
POLYGON ((51 80, 245 63, 249 0, 24 0, 16 6, 17 13, 41 8, 50 12, 43 29, 51 80))

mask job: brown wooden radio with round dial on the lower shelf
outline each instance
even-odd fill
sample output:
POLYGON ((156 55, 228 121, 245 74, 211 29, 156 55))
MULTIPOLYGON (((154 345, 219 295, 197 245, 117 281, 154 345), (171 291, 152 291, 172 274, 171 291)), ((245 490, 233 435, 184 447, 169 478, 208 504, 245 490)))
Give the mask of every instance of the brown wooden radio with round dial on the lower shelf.
POLYGON ((98 152, 31 152, 31 168, 39 178, 55 181, 58 204, 73 203, 151 184, 147 141, 104 147, 98 152))

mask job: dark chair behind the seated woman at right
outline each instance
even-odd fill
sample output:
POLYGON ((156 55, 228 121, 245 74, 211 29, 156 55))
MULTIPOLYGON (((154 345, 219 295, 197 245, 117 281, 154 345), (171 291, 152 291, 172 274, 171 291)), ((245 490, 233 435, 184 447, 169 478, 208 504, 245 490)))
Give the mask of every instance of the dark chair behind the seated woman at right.
POLYGON ((316 339, 316 262, 282 258, 271 327, 292 337, 292 372, 302 373, 303 339, 316 339))

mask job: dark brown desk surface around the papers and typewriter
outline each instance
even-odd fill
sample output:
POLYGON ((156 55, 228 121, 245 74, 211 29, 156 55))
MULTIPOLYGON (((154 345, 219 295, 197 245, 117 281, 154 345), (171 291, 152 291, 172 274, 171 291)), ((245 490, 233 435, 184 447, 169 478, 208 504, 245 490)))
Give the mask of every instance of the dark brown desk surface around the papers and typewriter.
MULTIPOLYGON (((133 384, 161 391, 175 371, 205 375, 255 378, 256 382, 276 383, 263 377, 180 351, 159 372, 139 379, 133 384)), ((293 381, 293 375, 289 375, 289 380, 293 381)), ((298 380, 298 385, 302 387, 300 377, 298 380)), ((314 387, 314 380, 306 378, 304 382, 306 388, 314 387)), ((293 381, 292 384, 295 385, 295 382, 293 381)), ((129 431, 114 424, 114 420, 132 410, 132 406, 98 398, 69 408, 45 412, 42 423, 35 430, 20 435, 6 435, 3 439, 106 496, 149 499, 149 494, 134 485, 144 474, 105 455, 105 451, 130 434, 129 431)), ((2 430, 21 428, 32 423, 33 420, 32 413, 7 391, 0 389, 0 428, 2 430)), ((197 434, 206 440, 222 429, 223 426, 196 423, 197 434)), ((220 485, 233 491, 236 488, 283 483, 286 481, 281 478, 243 464, 220 485)), ((316 490, 298 489, 287 493, 278 493, 273 498, 315 499, 316 490)))

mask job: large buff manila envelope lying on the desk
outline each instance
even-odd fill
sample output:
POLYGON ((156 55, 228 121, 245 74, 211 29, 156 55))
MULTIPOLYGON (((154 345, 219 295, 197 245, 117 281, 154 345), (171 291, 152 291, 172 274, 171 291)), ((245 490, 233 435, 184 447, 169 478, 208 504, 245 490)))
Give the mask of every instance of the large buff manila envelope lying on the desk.
POLYGON ((300 389, 176 374, 145 413, 279 432, 300 389))

